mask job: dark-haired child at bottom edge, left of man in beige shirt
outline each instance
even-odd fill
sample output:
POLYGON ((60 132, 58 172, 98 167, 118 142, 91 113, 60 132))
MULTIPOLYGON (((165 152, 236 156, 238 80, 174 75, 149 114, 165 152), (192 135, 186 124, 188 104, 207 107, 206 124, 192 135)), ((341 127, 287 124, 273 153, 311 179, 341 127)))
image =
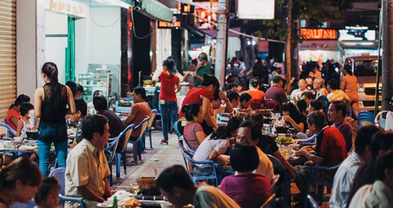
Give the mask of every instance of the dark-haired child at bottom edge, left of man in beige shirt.
POLYGON ((34 196, 36 208, 56 208, 59 202, 60 188, 56 178, 45 178, 34 196))

